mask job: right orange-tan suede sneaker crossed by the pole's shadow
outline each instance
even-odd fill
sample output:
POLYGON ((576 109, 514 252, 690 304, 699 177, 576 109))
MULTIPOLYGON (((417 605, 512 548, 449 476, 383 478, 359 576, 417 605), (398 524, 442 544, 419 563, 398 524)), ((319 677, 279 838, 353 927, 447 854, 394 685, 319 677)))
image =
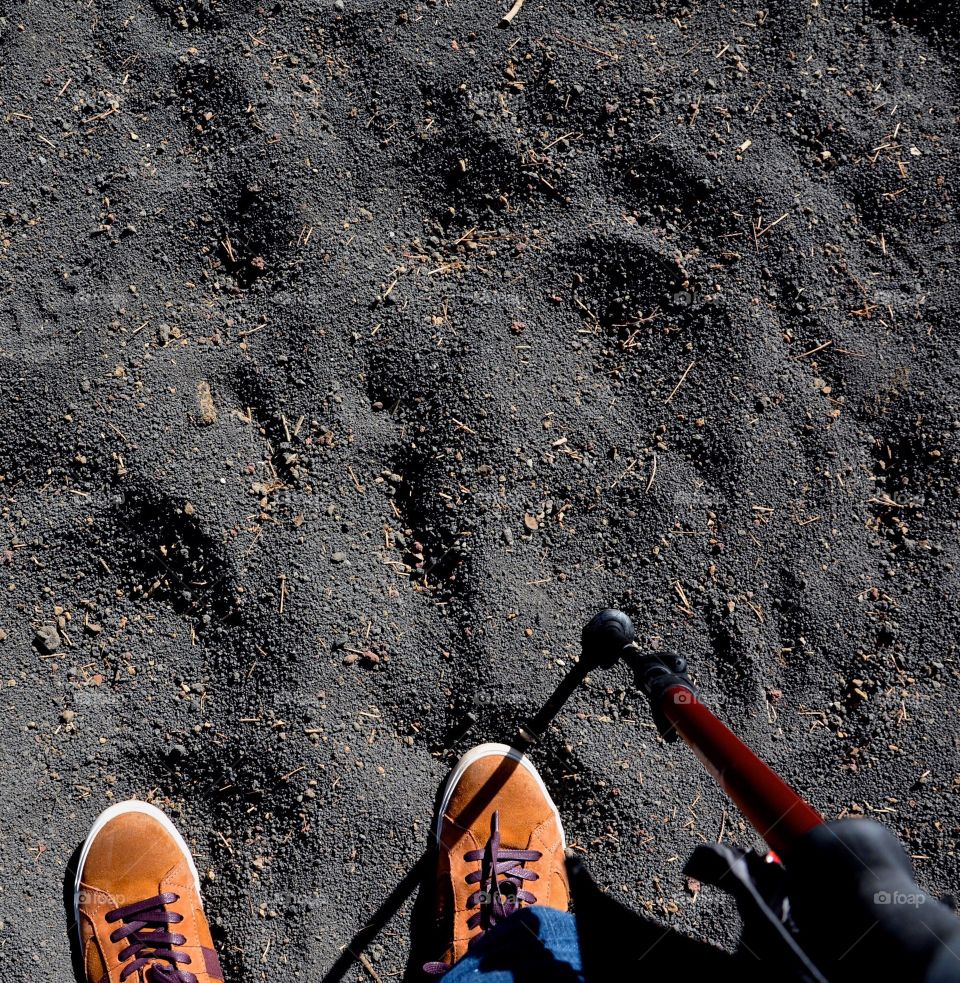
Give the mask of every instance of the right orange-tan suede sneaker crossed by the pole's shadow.
POLYGON ((570 891, 560 813, 524 754, 468 751, 447 779, 434 830, 437 916, 449 946, 424 970, 442 975, 492 925, 525 905, 566 911, 570 891))

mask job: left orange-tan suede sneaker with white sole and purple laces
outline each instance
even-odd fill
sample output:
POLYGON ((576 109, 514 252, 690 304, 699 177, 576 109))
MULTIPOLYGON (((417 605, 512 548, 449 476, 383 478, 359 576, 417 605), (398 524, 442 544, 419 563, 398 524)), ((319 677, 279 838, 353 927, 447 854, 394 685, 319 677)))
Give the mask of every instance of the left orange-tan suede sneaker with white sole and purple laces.
POLYGON ((94 823, 74 914, 87 983, 223 981, 190 850, 146 802, 111 806, 94 823))

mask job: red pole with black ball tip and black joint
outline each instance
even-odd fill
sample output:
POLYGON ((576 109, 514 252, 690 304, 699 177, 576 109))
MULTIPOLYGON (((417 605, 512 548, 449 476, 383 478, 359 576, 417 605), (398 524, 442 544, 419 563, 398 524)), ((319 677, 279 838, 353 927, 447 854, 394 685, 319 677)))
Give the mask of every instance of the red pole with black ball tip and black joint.
POLYGON ((588 665, 623 659, 650 701, 663 738, 681 737, 751 825, 783 860, 823 817, 697 699, 683 656, 641 652, 630 618, 607 608, 583 630, 588 665))

